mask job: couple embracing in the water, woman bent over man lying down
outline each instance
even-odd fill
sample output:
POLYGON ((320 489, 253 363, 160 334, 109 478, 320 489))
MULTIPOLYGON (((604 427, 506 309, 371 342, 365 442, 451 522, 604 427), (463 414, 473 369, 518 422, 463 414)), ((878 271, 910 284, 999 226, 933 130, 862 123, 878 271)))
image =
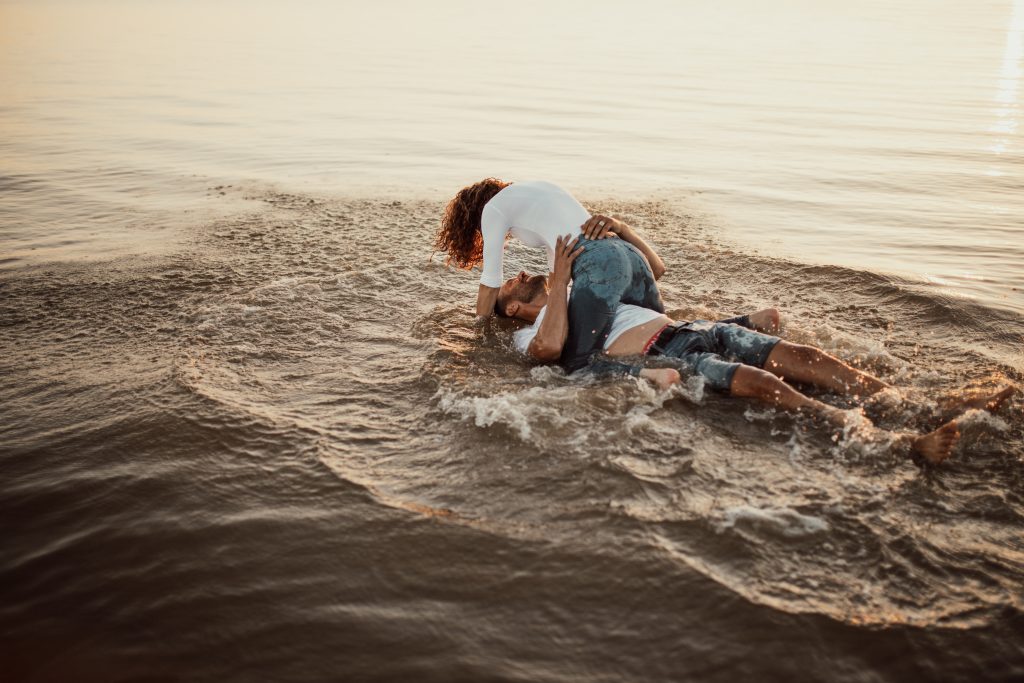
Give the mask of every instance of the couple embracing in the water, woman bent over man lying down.
MULTIPOLYGON (((519 351, 558 361, 566 373, 631 375, 662 388, 698 375, 718 391, 836 427, 850 414, 787 382, 862 397, 889 388, 820 349, 768 334, 777 331, 774 309, 719 322, 671 319, 656 283, 666 267, 650 245, 625 222, 591 215, 550 182, 487 178, 464 187, 445 208, 435 248, 460 267, 481 267, 478 318, 497 313, 522 322, 519 351), (520 272, 503 282, 509 237, 544 249, 549 274, 520 272)), ((964 407, 995 410, 1012 392, 964 407)), ((928 434, 895 434, 932 463, 948 458, 958 436, 955 421, 928 434)))

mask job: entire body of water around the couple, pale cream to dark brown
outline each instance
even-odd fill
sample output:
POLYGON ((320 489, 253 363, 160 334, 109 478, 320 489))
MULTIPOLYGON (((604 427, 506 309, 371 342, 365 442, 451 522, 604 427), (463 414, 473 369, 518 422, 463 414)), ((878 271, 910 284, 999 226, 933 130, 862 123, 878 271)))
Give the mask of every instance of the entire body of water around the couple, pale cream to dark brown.
POLYGON ((0 8, 8 675, 1024 675, 1020 398, 922 470, 531 368, 429 250, 467 178, 556 179, 651 238, 676 317, 777 306, 931 428, 1024 380, 1019 134, 986 128, 1017 5, 527 4, 493 39, 398 6, 0 8))

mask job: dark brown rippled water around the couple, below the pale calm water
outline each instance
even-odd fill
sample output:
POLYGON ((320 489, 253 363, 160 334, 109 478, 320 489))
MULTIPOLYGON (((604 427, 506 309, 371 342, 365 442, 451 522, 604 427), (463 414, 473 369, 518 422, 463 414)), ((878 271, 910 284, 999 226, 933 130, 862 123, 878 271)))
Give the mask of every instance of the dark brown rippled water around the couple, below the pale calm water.
MULTIPOLYGON (((1019 398, 922 471, 568 381, 474 330, 439 202, 246 191, 167 253, 0 274, 4 680, 1024 677, 1019 398)), ((677 316, 777 305, 904 387, 888 427, 1022 384, 1014 313, 592 206, 652 237, 677 316)))

